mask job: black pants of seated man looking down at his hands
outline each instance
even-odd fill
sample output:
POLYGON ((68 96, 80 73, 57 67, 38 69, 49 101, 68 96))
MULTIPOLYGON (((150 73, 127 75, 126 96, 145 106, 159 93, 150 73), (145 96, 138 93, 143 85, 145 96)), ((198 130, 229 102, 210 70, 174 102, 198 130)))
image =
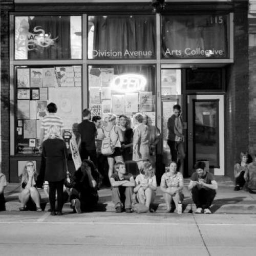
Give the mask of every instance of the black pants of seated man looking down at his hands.
POLYGON ((193 187, 191 190, 192 199, 196 204, 197 208, 207 209, 214 201, 216 196, 216 191, 214 189, 198 188, 193 187))

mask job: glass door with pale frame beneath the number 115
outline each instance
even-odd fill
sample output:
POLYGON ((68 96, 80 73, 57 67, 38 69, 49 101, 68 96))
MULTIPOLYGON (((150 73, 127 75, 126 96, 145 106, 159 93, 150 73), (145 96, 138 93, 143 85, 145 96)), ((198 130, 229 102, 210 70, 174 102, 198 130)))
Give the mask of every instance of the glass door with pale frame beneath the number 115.
POLYGON ((215 175, 224 175, 223 95, 188 95, 188 171, 206 161, 215 175))

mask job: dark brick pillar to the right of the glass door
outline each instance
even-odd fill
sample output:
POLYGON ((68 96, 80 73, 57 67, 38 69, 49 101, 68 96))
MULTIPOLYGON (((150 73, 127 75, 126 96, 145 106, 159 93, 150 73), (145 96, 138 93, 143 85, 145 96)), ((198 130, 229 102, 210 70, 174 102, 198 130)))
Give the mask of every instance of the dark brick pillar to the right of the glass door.
POLYGON ((227 68, 225 100, 225 174, 230 178, 240 152, 249 147, 247 13, 247 2, 234 1, 234 64, 227 68))

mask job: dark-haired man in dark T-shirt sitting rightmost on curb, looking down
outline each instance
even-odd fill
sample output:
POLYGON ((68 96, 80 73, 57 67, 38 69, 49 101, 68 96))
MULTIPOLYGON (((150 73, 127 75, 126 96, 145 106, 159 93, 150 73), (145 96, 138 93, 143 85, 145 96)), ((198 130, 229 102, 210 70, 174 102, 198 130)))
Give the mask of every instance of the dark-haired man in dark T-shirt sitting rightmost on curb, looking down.
POLYGON ((211 214, 209 207, 214 201, 218 184, 214 175, 205 170, 205 163, 198 161, 195 164, 196 172, 191 175, 188 190, 191 191, 192 199, 197 206, 196 214, 211 214))

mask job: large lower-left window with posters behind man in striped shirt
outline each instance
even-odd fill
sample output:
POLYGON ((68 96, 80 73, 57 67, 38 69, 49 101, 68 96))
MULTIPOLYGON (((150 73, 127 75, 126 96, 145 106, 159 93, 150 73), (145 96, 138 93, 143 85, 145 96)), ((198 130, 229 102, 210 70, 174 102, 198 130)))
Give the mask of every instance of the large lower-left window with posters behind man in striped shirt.
POLYGON ((65 129, 81 122, 81 66, 16 67, 16 153, 39 154, 41 119, 57 105, 65 129))

